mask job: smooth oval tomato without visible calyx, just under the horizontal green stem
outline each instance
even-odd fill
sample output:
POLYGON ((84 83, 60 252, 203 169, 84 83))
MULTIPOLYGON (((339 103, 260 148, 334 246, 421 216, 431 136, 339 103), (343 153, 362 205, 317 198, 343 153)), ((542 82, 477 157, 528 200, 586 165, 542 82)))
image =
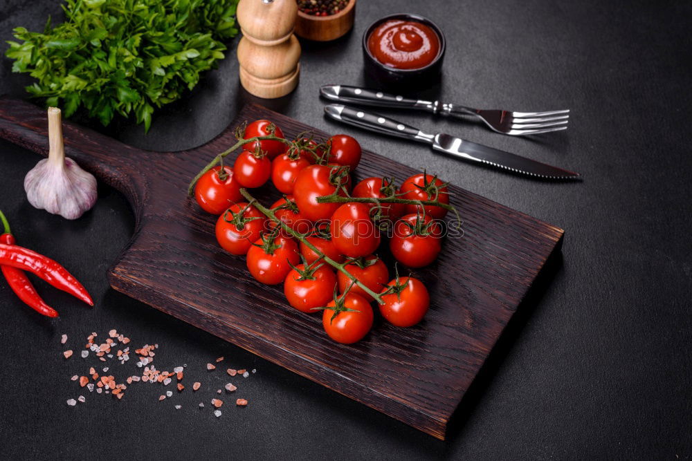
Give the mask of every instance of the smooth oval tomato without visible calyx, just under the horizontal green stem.
POLYGON ((370 219, 365 203, 345 203, 331 215, 331 241, 351 258, 372 254, 380 245, 380 231, 370 219))

